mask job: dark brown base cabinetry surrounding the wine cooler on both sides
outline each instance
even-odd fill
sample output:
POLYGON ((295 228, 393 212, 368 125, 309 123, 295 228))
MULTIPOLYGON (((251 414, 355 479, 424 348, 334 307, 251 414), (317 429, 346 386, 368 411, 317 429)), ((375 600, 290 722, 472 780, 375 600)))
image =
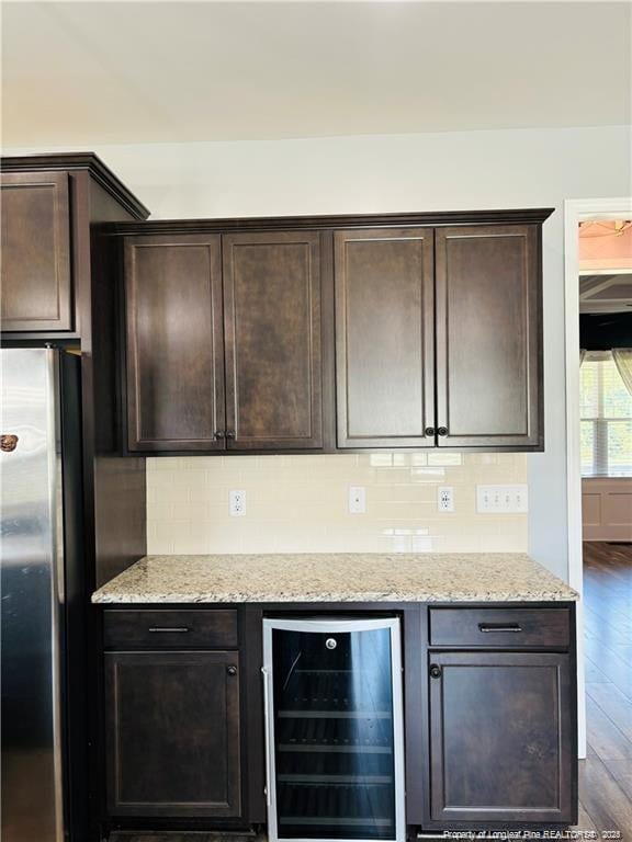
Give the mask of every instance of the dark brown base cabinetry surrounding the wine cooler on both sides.
MULTIPOLYGON (((307 611, 400 618, 411 833, 577 820, 572 603, 307 611)), ((279 613, 306 607, 103 612, 105 828, 266 821, 262 617, 279 613)))

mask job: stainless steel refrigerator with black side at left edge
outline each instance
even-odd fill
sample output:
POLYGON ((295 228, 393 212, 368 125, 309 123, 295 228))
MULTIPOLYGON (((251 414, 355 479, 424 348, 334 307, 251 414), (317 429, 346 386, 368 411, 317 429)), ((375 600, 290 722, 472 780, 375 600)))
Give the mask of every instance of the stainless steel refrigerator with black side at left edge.
POLYGON ((0 377, 1 838, 79 840, 71 829, 87 810, 80 359, 5 348, 0 377))

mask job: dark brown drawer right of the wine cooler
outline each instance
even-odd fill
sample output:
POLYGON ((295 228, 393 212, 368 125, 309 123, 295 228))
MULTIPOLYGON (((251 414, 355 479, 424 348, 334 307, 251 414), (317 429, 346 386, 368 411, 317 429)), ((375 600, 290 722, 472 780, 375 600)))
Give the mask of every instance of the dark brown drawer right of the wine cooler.
POLYGON ((430 608, 430 646, 567 649, 568 608, 430 608))

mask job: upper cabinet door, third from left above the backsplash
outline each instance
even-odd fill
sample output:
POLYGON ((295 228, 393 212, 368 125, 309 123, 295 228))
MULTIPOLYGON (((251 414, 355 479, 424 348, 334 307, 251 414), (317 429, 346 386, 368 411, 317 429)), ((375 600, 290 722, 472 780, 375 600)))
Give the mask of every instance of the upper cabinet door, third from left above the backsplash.
POLYGON ((338 446, 431 446, 433 231, 334 237, 338 446))

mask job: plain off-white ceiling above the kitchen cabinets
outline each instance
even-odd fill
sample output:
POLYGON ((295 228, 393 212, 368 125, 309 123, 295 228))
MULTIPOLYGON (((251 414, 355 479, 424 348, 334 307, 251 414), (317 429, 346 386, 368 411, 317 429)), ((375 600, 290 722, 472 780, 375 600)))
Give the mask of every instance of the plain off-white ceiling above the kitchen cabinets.
POLYGON ((4 3, 4 146, 631 122, 628 2, 4 3))

